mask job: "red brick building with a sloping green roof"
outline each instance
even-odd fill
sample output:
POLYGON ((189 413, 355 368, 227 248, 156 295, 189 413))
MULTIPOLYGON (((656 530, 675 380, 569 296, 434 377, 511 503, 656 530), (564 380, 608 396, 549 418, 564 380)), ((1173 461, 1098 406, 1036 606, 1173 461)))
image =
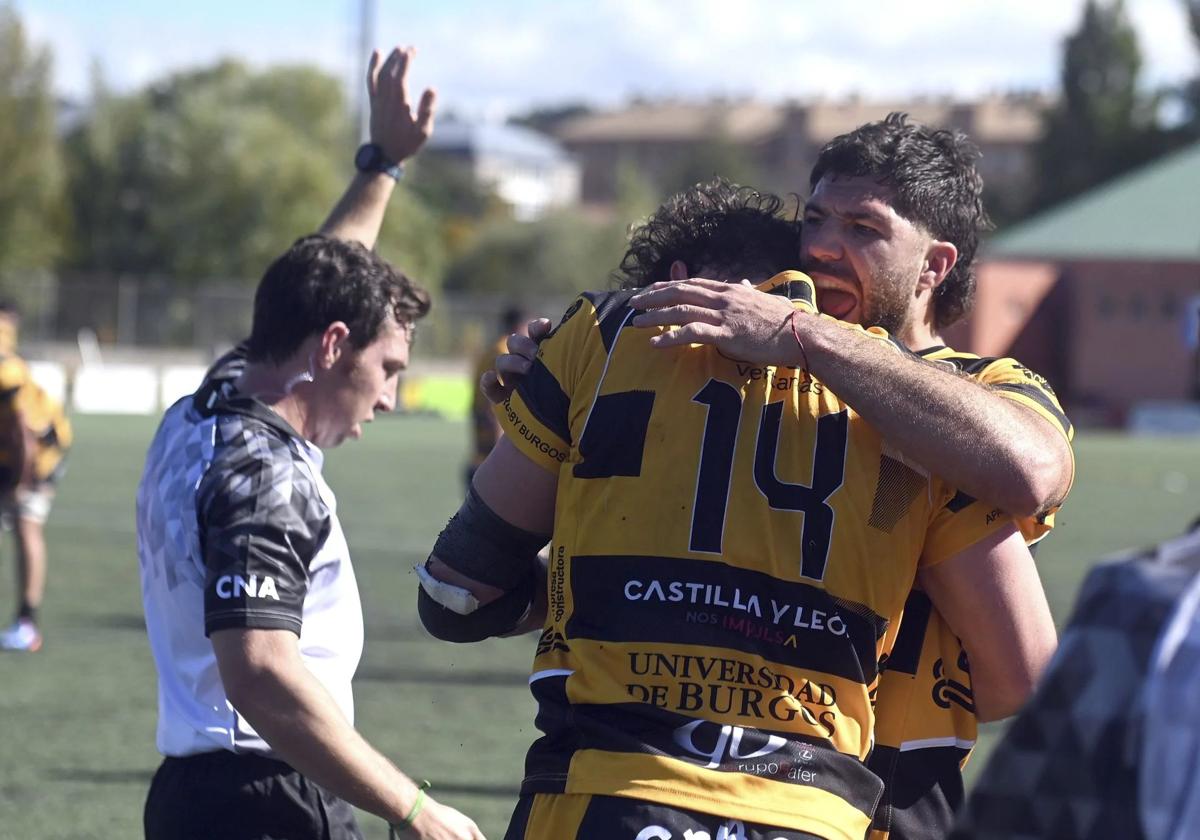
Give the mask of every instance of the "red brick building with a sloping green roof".
POLYGON ((948 337, 1050 379, 1076 422, 1200 398, 1200 144, 988 244, 974 312, 948 337))

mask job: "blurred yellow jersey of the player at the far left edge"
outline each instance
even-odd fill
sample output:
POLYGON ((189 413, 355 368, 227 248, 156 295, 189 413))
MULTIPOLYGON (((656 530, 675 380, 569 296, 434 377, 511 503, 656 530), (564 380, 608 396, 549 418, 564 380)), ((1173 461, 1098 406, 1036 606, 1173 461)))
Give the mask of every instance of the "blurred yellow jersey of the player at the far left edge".
MULTIPOLYGON (((49 481, 56 474, 71 445, 71 424, 58 400, 34 382, 29 366, 18 355, 0 356, 0 425, 5 428, 20 418, 37 442, 34 454, 34 476, 49 481)), ((16 482, 22 466, 12 437, 0 434, 0 485, 16 482)))

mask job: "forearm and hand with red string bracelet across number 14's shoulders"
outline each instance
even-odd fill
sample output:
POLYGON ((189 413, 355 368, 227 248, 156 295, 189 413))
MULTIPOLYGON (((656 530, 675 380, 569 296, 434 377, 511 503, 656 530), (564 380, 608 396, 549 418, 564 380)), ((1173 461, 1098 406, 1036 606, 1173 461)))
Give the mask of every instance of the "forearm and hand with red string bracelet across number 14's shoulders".
POLYGON ((647 310, 637 326, 682 325, 652 340, 658 347, 701 342, 746 361, 806 364, 894 446, 1013 516, 1056 506, 1070 486, 1070 448, 1033 410, 811 308, 792 322, 786 298, 692 278, 655 283, 630 304, 647 310))

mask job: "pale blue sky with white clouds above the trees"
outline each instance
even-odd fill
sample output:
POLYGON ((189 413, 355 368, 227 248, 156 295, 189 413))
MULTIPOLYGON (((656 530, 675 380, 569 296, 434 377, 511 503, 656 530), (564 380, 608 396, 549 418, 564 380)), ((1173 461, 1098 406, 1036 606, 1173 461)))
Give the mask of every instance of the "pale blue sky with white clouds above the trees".
MULTIPOLYGON (((634 95, 767 100, 1050 90, 1084 0, 377 0, 379 46, 412 43, 444 106, 504 116, 634 95), (919 11, 913 11, 919 10, 919 11)), ((358 0, 17 0, 60 92, 98 61, 132 89, 238 56, 358 85, 358 0)), ((1147 83, 1198 71, 1180 0, 1127 0, 1147 83)), ((356 86, 355 86, 356 90, 356 86)))

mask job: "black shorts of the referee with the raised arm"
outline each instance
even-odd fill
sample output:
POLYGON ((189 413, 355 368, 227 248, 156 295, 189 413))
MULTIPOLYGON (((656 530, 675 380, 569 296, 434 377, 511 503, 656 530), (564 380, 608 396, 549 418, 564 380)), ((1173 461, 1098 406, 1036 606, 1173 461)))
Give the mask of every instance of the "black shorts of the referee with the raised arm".
POLYGON ((354 809, 275 758, 228 750, 164 758, 146 840, 362 840, 354 809))

